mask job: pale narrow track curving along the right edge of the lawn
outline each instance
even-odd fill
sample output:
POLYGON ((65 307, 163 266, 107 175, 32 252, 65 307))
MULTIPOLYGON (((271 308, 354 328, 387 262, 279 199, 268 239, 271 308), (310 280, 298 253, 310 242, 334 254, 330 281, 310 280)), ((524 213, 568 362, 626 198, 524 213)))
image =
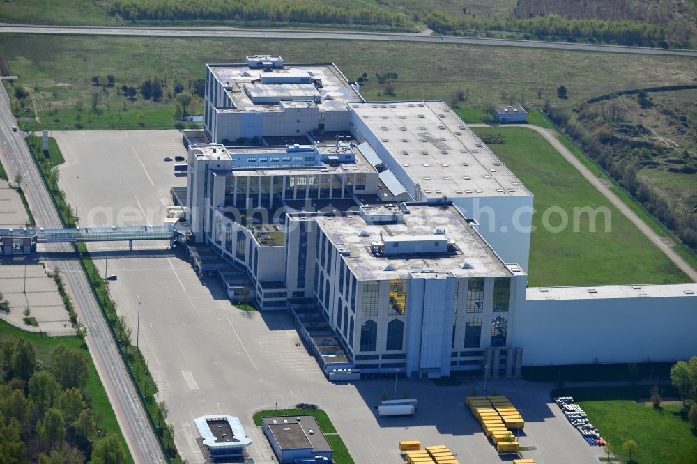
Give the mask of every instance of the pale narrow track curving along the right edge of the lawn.
MULTIPOLYGON (((470 124, 470 127, 489 127, 487 124, 470 124)), ((675 252, 675 250, 672 247, 666 247, 665 245, 661 244, 658 240, 658 237, 656 233, 651 229, 643 220, 636 215, 636 212, 632 211, 629 206, 625 205, 625 203, 620 200, 620 198, 615 195, 615 193, 610 190, 608 187, 601 185, 598 182, 597 176, 593 174, 590 169, 585 167, 585 165, 579 161, 578 158, 574 156, 571 151, 569 151, 568 148, 566 148, 557 138, 557 133, 554 130, 548 130, 544 129, 543 127, 538 127, 537 125, 531 125, 531 124, 510 124, 506 125, 506 127, 525 127, 526 129, 532 129, 537 132, 539 132, 542 137, 546 139, 546 141, 549 141, 549 143, 556 148, 556 150, 561 153, 565 159, 572 164, 573 167, 579 170, 581 173, 581 176, 586 178, 590 184, 595 187, 595 190, 598 192, 602 193, 606 199, 612 203, 615 208, 620 210, 622 215, 627 217, 637 228, 648 237, 648 239, 659 249, 661 249, 662 252, 668 256, 668 258, 677 265, 678 268, 682 270, 687 276, 692 279, 693 282, 697 282, 697 270, 695 270, 687 261, 682 258, 679 254, 675 252)))

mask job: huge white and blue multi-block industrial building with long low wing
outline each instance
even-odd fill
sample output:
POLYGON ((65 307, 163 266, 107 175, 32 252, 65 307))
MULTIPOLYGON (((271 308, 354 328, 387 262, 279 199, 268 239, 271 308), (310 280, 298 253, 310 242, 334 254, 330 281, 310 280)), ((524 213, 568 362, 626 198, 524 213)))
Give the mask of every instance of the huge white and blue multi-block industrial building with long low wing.
MULTIPOLYGON (((526 288, 533 194, 441 101, 365 102, 332 63, 249 56, 206 66, 205 105, 184 135, 194 261, 291 311, 330 378, 639 360, 561 334, 659 295, 696 317, 693 284, 526 288)), ((672 330, 641 356, 697 350, 672 330)))

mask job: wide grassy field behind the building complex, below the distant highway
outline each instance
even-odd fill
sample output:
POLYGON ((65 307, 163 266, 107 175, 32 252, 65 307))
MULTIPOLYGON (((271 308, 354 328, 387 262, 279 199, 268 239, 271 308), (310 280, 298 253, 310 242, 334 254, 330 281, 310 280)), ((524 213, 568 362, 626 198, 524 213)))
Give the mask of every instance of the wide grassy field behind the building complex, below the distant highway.
MULTIPOLYGON (((274 50, 289 63, 334 62, 352 80, 366 72, 368 80, 361 94, 367 100, 449 101, 457 91, 468 91, 466 101, 461 102, 468 108, 496 105, 507 101, 503 95, 518 97, 521 93, 529 104, 542 105, 544 99, 556 98, 560 84, 569 88, 569 98, 555 100, 555 104, 570 108, 617 88, 683 84, 697 74, 697 61, 681 56, 347 40, 0 36, 0 55, 29 89, 41 125, 56 130, 77 123, 78 102, 82 102, 80 123, 85 128, 110 128, 112 118, 116 128, 137 127, 139 113, 144 115, 146 128, 173 127, 174 103, 169 94, 175 81, 187 86, 192 79, 204 77, 204 63, 240 63, 260 47, 274 50), (574 63, 573 70, 567 63, 574 63), (597 72, 599 68, 602 73, 597 72), (385 84, 378 84, 378 72, 397 72, 398 78, 390 79, 394 95, 387 95, 385 84), (93 86, 93 75, 114 75, 116 83, 135 87, 153 75, 166 75, 167 86, 161 102, 143 100, 140 95, 132 102, 118 95, 116 87, 102 91, 93 86), (537 89, 541 98, 537 98, 537 89), (90 111, 94 91, 100 94, 96 112, 90 111)), ((12 84, 5 85, 13 94, 12 84)), ((13 101, 13 109, 15 106, 13 101)), ((200 114, 202 109, 197 99, 190 113, 200 114)), ((481 110, 463 111, 466 121, 477 122, 478 118, 481 122, 481 110)))

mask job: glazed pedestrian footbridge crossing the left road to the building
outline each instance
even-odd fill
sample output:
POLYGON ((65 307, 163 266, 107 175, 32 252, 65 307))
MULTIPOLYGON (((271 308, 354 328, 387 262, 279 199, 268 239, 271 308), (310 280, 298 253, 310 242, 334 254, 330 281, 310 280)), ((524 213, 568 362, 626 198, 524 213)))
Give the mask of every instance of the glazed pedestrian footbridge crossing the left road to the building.
POLYGON ((169 240, 186 243, 191 236, 188 225, 183 222, 167 226, 0 229, 0 255, 36 253, 38 243, 128 242, 132 248, 133 242, 137 240, 169 240))

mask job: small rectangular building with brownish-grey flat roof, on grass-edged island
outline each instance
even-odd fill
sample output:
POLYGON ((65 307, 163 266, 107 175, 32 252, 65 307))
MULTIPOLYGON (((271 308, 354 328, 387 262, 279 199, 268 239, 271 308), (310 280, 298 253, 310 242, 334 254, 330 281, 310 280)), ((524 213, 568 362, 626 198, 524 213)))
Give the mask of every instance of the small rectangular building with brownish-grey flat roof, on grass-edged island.
POLYGON ((261 427, 281 464, 332 462, 332 447, 313 416, 263 417, 261 427))

